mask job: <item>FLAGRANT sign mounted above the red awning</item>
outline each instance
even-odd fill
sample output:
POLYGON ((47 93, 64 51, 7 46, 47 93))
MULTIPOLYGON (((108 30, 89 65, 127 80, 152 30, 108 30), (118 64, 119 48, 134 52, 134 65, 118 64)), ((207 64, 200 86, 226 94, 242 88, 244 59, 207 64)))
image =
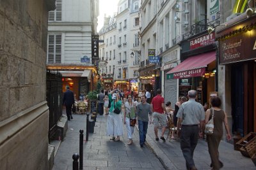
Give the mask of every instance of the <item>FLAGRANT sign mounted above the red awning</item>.
POLYGON ((214 32, 212 32, 211 34, 205 34, 205 35, 200 36, 195 39, 191 39, 191 41, 189 43, 190 50, 193 50, 195 48, 199 48, 202 46, 210 45, 210 44, 214 43, 214 41, 215 41, 214 39, 215 39, 214 32))

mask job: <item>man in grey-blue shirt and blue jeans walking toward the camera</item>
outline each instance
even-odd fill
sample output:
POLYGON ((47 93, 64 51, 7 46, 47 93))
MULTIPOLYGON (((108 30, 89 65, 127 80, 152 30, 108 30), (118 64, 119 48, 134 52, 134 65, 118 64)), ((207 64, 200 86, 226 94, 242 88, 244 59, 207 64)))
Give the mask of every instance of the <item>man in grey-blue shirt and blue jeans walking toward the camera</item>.
POLYGON ((148 131, 148 115, 149 124, 152 124, 152 111, 150 109, 150 104, 146 101, 146 96, 141 96, 141 103, 136 107, 137 122, 140 134, 140 146, 143 147, 146 141, 146 135, 148 131))

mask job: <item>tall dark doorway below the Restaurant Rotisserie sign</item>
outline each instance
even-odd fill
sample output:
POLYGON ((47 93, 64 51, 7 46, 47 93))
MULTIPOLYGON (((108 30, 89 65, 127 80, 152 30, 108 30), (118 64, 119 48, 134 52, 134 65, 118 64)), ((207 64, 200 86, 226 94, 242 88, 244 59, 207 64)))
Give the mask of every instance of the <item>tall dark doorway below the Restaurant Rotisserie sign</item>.
POLYGON ((232 131, 244 135, 244 78, 243 65, 232 66, 231 96, 232 96, 232 131))

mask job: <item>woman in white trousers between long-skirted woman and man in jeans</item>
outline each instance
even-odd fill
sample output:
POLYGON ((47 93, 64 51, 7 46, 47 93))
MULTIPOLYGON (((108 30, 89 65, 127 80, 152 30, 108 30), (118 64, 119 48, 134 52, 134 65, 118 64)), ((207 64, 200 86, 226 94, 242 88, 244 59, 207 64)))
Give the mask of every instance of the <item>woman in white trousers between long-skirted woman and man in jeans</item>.
POLYGON ((127 145, 132 144, 132 134, 134 132, 134 126, 136 124, 136 115, 135 115, 135 107, 136 104, 132 101, 132 95, 129 94, 127 96, 127 102, 124 104, 125 111, 124 111, 124 124, 126 124, 127 128, 127 136, 129 138, 129 142, 127 145))

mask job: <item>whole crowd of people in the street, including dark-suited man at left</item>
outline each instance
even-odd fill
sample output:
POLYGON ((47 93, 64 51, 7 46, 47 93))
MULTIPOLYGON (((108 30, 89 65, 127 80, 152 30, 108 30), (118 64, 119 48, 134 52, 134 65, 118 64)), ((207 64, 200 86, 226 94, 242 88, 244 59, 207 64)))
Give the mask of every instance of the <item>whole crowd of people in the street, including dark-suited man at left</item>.
MULTIPOLYGON (((74 94, 69 89, 63 95, 63 105, 66 106, 68 120, 72 119, 71 108, 74 104, 74 94)), ((164 104, 164 98, 161 96, 161 89, 157 89, 157 95, 152 97, 148 90, 145 95, 138 99, 134 97, 135 92, 125 94, 123 90, 101 90, 98 95, 98 111, 100 115, 108 116, 106 127, 106 135, 110 136, 113 141, 120 141, 123 135, 123 124, 127 128, 127 145, 132 145, 132 135, 134 133, 135 124, 138 125, 140 135, 140 146, 145 145, 148 124, 154 125, 154 133, 156 141, 159 141, 158 129, 161 127, 160 139, 165 142, 164 132, 168 127, 168 117, 177 131, 172 131, 172 137, 176 133, 180 138, 180 148, 186 160, 186 168, 195 170, 195 162, 193 153, 199 138, 206 136, 208 151, 211 157, 212 169, 220 169, 223 162, 219 160, 218 146, 223 136, 223 125, 227 132, 227 140, 231 139, 227 114, 221 110, 220 97, 211 97, 210 103, 202 104, 196 102, 196 91, 189 90, 188 99, 186 96, 180 97, 172 108, 172 103, 168 101, 164 104), (126 101, 124 100, 126 97, 126 101), (122 116, 122 106, 124 113, 122 116), (211 108, 210 108, 211 107, 211 108), (204 134, 205 124, 209 120, 214 120, 214 132, 212 134, 204 134)), ((169 122, 170 123, 170 122, 169 122)), ((169 124, 170 125, 170 124, 169 124)), ((169 134, 168 134, 169 135, 169 134)), ((170 136, 167 136, 167 138, 170 136)))

